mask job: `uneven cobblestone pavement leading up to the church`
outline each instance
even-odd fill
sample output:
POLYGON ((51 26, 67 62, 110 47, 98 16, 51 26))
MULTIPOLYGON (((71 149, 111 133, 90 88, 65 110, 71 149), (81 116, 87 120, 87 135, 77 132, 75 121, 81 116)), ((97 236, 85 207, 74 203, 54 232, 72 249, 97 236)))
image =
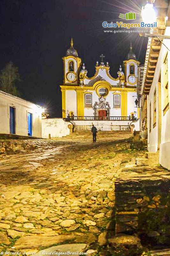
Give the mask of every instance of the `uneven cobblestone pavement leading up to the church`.
POLYGON ((15 141, 15 154, 0 155, 0 250, 105 245, 114 230, 114 181, 122 166, 144 155, 130 149, 130 137, 99 132, 97 143, 90 133, 15 141))

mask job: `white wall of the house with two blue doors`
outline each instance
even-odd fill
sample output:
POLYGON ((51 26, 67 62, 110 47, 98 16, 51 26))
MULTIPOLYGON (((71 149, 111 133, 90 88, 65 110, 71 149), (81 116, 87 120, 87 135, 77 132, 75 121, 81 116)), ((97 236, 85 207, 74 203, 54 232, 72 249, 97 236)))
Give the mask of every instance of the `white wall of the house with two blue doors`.
POLYGON ((15 132, 17 135, 28 135, 27 113, 33 114, 33 136, 41 138, 40 107, 0 91, 0 133, 10 134, 10 107, 15 108, 15 132))

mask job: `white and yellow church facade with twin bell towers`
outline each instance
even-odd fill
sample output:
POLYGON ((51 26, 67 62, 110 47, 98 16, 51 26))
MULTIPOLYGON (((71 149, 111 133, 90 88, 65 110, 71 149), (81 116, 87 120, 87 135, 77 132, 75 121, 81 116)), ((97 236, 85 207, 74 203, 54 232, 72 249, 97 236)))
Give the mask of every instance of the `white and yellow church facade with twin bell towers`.
POLYGON ((63 57, 64 79, 62 91, 62 116, 73 116, 75 120, 130 120, 139 118, 135 105, 137 97, 137 73, 139 61, 132 51, 123 61, 124 72, 120 66, 117 78, 109 74, 109 64, 104 63, 101 54, 100 63, 95 65, 96 73, 87 76, 85 64, 82 64, 71 39, 70 48, 63 57), (120 118, 120 119, 119 119, 120 118))

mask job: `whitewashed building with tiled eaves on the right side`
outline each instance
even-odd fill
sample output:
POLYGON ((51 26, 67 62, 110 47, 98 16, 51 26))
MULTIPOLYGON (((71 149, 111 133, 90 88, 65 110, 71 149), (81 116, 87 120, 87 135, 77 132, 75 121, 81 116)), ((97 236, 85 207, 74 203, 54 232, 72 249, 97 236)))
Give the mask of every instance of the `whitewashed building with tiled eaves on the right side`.
MULTIPOLYGON (((168 9, 168 3, 165 4, 168 9)), ((163 15, 157 18, 158 36, 148 39, 143 83, 138 96, 141 130, 147 132, 148 151, 159 152, 159 163, 170 170, 170 37, 163 37, 170 36, 170 22, 166 20, 163 15)))

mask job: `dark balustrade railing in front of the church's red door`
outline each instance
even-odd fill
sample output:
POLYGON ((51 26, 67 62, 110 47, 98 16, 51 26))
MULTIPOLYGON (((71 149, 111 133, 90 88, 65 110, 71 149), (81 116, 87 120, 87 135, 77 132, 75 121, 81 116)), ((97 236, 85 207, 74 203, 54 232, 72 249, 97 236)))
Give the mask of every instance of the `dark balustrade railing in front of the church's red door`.
POLYGON ((68 116, 63 119, 65 121, 137 121, 137 118, 132 116, 68 116))

